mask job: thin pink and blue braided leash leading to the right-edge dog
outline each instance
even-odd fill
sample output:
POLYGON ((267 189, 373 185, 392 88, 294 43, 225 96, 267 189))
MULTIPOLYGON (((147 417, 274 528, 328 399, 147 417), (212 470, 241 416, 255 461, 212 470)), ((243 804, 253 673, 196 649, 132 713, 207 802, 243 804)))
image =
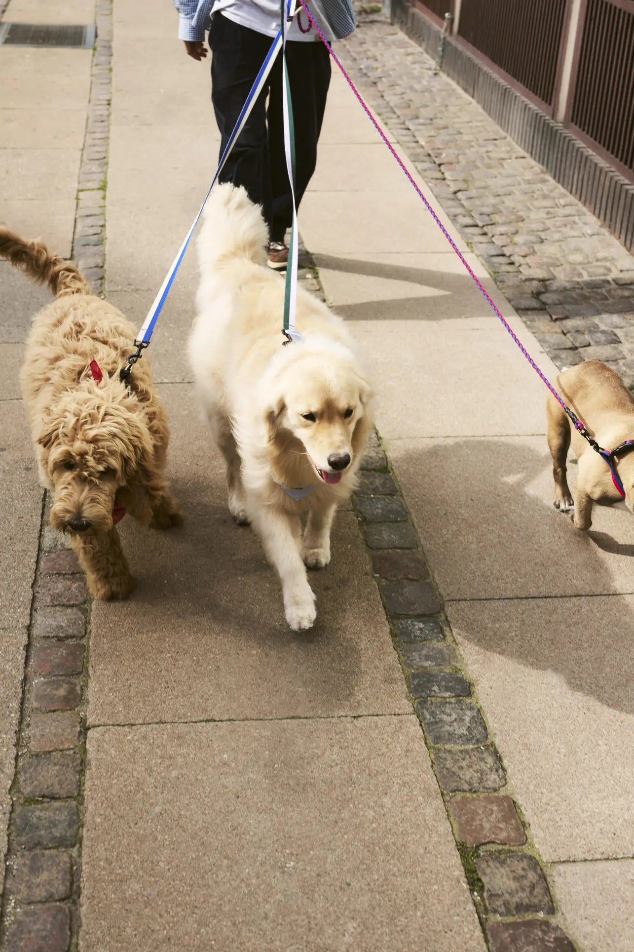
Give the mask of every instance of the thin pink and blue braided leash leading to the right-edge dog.
MULTIPOLYGON (((570 420, 572 421, 573 426, 575 427, 575 429, 578 430, 579 433, 581 433, 581 435, 584 437, 585 440, 587 440, 587 442, 590 444, 590 446, 592 446, 592 448, 593 448, 597 453, 599 453, 599 455, 604 459, 606 465, 609 466, 610 472, 611 472, 611 474, 612 474, 612 482, 614 483, 614 486, 616 486, 616 488, 618 489, 618 491, 620 492, 620 494, 624 497, 624 495, 625 495, 624 487, 623 487, 623 483, 621 482, 621 478, 620 478, 619 474, 618 474, 617 471, 616 471, 615 458, 616 458, 617 454, 620 453, 620 452, 629 451, 630 449, 634 449, 634 440, 626 440, 624 443, 621 444, 621 446, 617 446, 616 449, 613 449, 611 452, 608 451, 607 449, 603 449, 601 446, 599 446, 599 444, 596 442, 596 440, 594 440, 594 439, 590 436, 590 434, 588 433, 587 429, 585 428, 584 424, 583 424, 582 421, 579 419, 579 417, 576 416, 575 413, 573 413, 573 411, 570 409, 570 407, 567 407, 567 406, 566 406, 566 404, 564 403, 564 401, 563 401, 562 398, 560 397, 560 395, 559 395, 559 393, 557 392, 557 390, 555 389, 555 387, 552 386, 552 384, 550 383, 550 381, 548 380, 548 378, 545 376, 545 373, 543 373, 543 371, 537 366, 537 364, 535 363, 535 361, 533 360, 533 358, 530 356, 530 354, 528 353, 528 351, 526 350, 526 348, 524 347, 524 345, 522 344, 522 342, 521 342, 520 339, 518 338, 517 334, 514 333, 514 331, 512 330, 511 327, 509 327, 508 322, 507 322, 507 321, 505 320, 505 318, 503 317, 502 313, 500 312, 499 307, 496 307, 495 303, 491 300, 491 297, 490 297, 490 295, 486 292, 485 288, 484 288, 483 285, 482 285, 482 282, 479 281, 479 279, 478 279, 478 278, 476 277, 476 275, 474 274, 473 269, 470 268, 468 262, 466 261, 465 255, 462 253, 462 251, 460 250, 460 248, 458 248, 458 246, 456 245, 455 241, 453 240, 453 238, 451 237, 451 235, 448 233, 448 231, 446 230, 445 226, 444 226, 443 223, 441 222, 440 218, 438 217, 438 215, 436 214, 436 212, 434 211, 434 209, 431 207, 431 205, 430 205, 429 202, 427 201, 426 196, 423 194, 423 192, 422 192, 421 189, 417 186, 417 184, 416 184, 416 182, 414 181, 414 179, 412 178, 412 176, 411 176, 411 175, 409 174, 409 172, 407 171, 407 169, 406 169, 406 167, 405 167, 405 165, 404 165, 404 163, 403 163, 403 160, 402 160, 401 157, 399 156, 399 154, 398 154, 398 152, 396 151, 396 149, 394 149, 394 147, 392 146, 392 144, 391 144, 391 143, 389 142, 389 140, 387 139, 386 133, 383 131, 383 129, 381 129, 381 127, 379 126, 378 122, 376 121, 376 119, 374 118, 374 116, 372 115, 372 113, 370 112, 370 110, 368 109, 368 107, 367 107, 367 105, 366 105, 366 103, 365 103, 365 101, 364 101, 364 99, 363 99, 363 96, 361 95, 361 93, 359 92, 359 90, 356 88, 356 86, 354 85, 354 83, 352 82, 352 80, 350 79, 350 77, 348 76, 346 69, 345 69, 344 66, 342 65, 341 61, 340 61, 339 58, 337 57, 337 55, 336 55, 336 53, 334 52, 334 50, 332 50, 332 47, 331 47, 330 44, 328 43, 328 41, 327 41, 326 37, 324 36, 324 33, 322 32, 322 30, 320 30, 320 28, 318 27, 317 23, 315 22, 315 19, 314 19, 314 17, 312 16, 312 14, 310 13, 310 10, 308 10, 307 3, 309 2, 309 0, 299 0, 299 2, 300 2, 300 4, 302 5, 302 7, 304 8, 304 10, 306 11, 306 14, 307 14, 307 17, 308 17, 308 21, 309 21, 309 27, 314 27, 315 30, 317 31, 319 37, 321 38, 321 40, 326 44, 327 50, 328 50, 328 52, 330 53, 330 56, 332 57, 332 59, 334 60, 334 62, 337 64, 337 66, 338 66, 339 69, 341 70, 341 72, 342 72, 344 78, 346 79, 347 85, 350 87, 350 89, 352 89, 352 92, 354 93, 354 95, 357 97, 357 99, 358 99, 359 102, 361 103, 361 105, 362 105, 364 111, 365 111, 366 114, 367 114, 367 118, 370 120, 370 122, 372 123, 372 125, 374 126, 374 128, 377 130, 377 132, 379 133, 379 135, 381 136, 381 138, 382 138, 383 141, 385 142, 385 144, 386 144, 386 146, 387 146, 387 149, 390 150, 390 152, 392 153, 392 155, 394 156, 394 158, 395 158, 396 161, 398 162, 398 164, 399 164, 399 166, 401 167, 401 169, 405 172, 408 181, 409 181, 410 184, 413 186, 413 188, 416 190, 416 193, 417 193, 418 197, 423 201, 423 203, 424 203, 424 205, 425 205, 427 211, 429 212, 429 214, 431 215, 431 217, 432 217, 433 220, 435 221, 435 223, 436 223, 436 225, 438 226, 438 228, 440 228, 441 231, 443 232, 443 234, 445 235, 446 240, 448 241, 448 243, 449 243, 449 245, 451 246, 451 248, 453 248, 453 250, 456 252, 456 254, 458 255, 458 257, 459 257, 460 260, 462 261, 462 263, 463 263, 463 265, 465 266, 466 270, 468 271, 470 277, 473 279, 473 281, 476 283, 476 285, 478 286, 478 288, 480 288, 480 290, 481 290, 482 293, 484 294, 485 299, 486 299, 487 303, 489 304, 489 306, 492 308, 494 314, 495 314, 496 317, 498 317, 499 320, 502 322, 502 324, 504 325, 505 329, 508 331, 508 333, 509 333, 510 336, 512 337, 512 339, 513 339, 513 341, 515 342, 515 344, 517 344, 517 346, 520 348, 520 350, 521 350, 522 353, 524 354, 524 356, 525 356, 526 360, 528 361, 528 363, 530 364, 530 366, 531 366, 531 367, 533 368, 533 370, 534 370, 537 374, 539 374, 539 376, 542 378, 542 380, 543 380, 544 383, 545 383, 545 386, 548 387, 548 389, 549 389, 550 392, 552 393, 552 395, 553 395, 553 397, 555 398, 555 400, 557 400, 557 402, 558 402, 558 403, 561 405, 561 407, 565 410, 566 415, 567 415, 567 416, 570 418, 570 420)), ((308 28, 308 29, 309 29, 309 28, 308 28)), ((307 32, 307 30, 302 30, 302 31, 303 31, 303 32, 307 32)))

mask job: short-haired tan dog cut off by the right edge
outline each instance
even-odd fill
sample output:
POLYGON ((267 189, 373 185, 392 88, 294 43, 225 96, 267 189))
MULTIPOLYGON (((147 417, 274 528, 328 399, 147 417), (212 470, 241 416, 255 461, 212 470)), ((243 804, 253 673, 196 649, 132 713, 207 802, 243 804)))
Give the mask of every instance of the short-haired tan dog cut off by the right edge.
MULTIPOLYGON (((611 452, 625 440, 634 440, 634 398, 618 373, 601 361, 584 361, 565 370, 557 378, 556 389, 602 449, 611 452)), ((555 479, 554 505, 564 512, 574 507, 575 526, 589 529, 593 503, 610 505, 623 497, 604 459, 577 432, 551 395, 546 400, 546 415, 555 479), (579 461, 574 506, 565 465, 571 438, 579 461)), ((634 512, 634 453, 625 453, 617 459, 616 468, 624 486, 625 506, 634 512)))

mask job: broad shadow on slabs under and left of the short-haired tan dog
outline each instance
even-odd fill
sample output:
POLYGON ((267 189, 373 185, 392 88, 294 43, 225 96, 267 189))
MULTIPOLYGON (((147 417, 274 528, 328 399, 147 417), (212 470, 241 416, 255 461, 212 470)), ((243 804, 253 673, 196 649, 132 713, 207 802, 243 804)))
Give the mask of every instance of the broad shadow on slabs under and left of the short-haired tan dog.
POLYGON ((631 515, 596 506, 596 528, 576 529, 551 506, 545 441, 542 451, 478 438, 402 453, 396 474, 459 638, 634 713, 631 515))

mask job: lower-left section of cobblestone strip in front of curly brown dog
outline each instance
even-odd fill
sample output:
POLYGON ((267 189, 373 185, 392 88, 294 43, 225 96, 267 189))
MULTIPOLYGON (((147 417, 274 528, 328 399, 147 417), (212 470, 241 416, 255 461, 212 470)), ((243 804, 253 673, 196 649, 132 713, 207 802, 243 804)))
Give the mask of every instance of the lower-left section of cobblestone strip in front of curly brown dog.
POLYGON ((73 552, 45 532, 37 560, 16 771, 11 785, 4 952, 66 952, 79 926, 86 765, 88 592, 73 552), (43 944, 46 942, 46 944, 43 944))

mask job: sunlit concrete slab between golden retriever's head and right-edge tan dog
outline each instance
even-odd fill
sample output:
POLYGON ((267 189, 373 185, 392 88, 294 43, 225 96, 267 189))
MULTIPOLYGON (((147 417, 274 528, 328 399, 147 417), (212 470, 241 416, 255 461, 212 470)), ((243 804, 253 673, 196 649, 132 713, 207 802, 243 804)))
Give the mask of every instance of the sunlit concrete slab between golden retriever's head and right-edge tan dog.
POLYGON ((495 317, 359 320, 354 333, 376 381, 379 431, 390 440, 545 430, 542 385, 505 347, 495 317))

